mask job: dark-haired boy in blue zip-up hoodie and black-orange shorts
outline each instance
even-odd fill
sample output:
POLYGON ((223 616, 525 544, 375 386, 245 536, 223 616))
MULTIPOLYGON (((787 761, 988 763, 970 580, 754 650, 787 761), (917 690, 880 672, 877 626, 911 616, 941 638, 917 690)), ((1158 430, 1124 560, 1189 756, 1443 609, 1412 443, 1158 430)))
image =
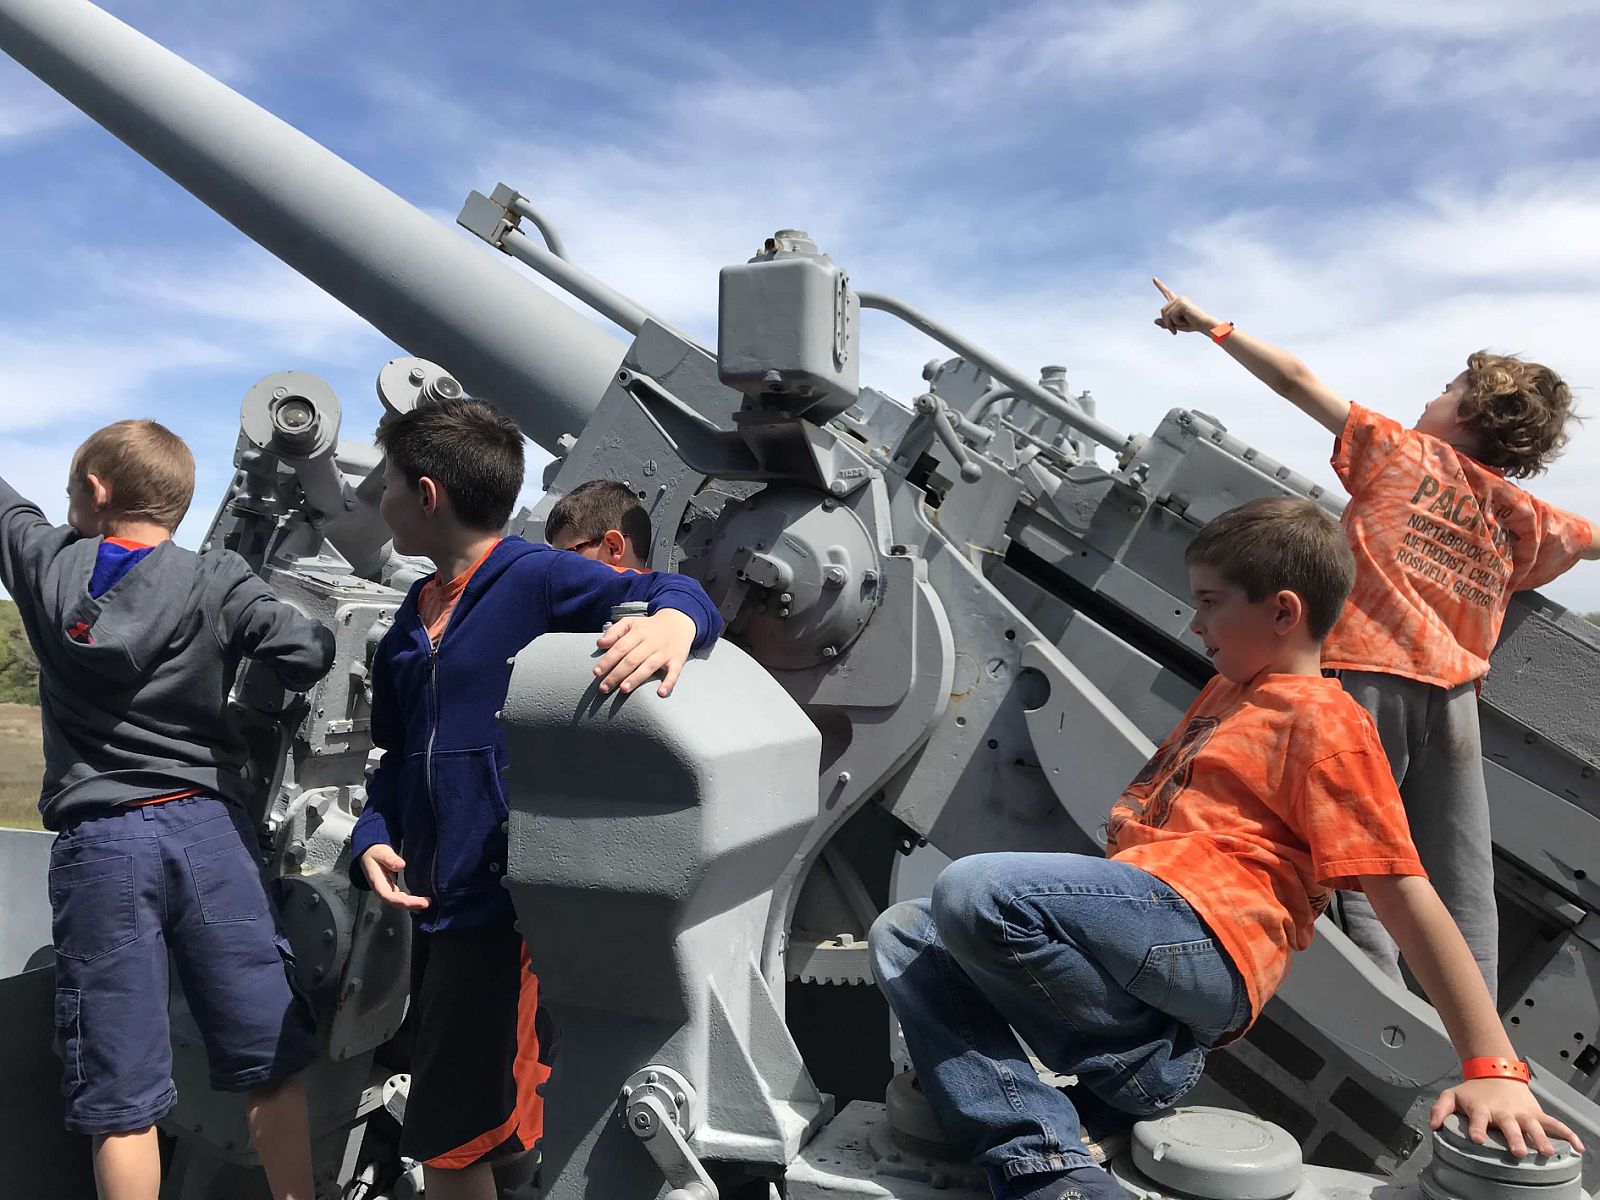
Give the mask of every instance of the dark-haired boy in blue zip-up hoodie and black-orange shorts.
POLYGON ((491 405, 421 405, 378 440, 395 549, 437 571, 411 589, 373 662, 373 741, 384 755, 350 838, 350 877, 416 915, 400 1150, 424 1165, 430 1200, 493 1200, 494 1166, 538 1142, 536 1088, 549 1077, 538 984, 501 886, 509 763, 496 715, 510 659, 544 632, 600 629, 613 605, 646 600, 650 616, 602 634, 594 674, 602 693, 626 693, 666 670, 666 696, 722 619, 680 574, 616 571, 502 538, 523 442, 491 405), (402 870, 408 891, 395 886, 402 870))

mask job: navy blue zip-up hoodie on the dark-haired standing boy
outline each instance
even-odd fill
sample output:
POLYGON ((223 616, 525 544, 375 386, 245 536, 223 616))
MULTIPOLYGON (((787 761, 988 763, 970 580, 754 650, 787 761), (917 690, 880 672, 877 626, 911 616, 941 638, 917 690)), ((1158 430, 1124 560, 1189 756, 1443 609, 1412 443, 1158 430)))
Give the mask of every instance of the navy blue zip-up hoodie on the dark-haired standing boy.
MULTIPOLYGON (((432 579, 432 576, 429 576, 432 579)), ((614 605, 645 600, 694 621, 694 648, 722 616, 682 574, 614 571, 570 550, 506 538, 467 581, 434 646, 416 611, 419 579, 373 661, 373 742, 384 752, 350 835, 350 880, 384 842, 405 858, 406 888, 427 896, 426 931, 514 922, 506 872, 506 704, 509 659, 539 634, 598 632, 614 605)))

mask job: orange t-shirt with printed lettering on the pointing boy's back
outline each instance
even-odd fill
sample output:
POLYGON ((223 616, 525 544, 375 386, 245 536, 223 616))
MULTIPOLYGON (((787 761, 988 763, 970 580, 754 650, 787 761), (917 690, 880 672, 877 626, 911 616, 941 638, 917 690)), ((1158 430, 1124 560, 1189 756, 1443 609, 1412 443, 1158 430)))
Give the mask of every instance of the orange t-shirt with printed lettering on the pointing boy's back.
POLYGON ((1429 434, 1350 405, 1333 448, 1355 590, 1323 643, 1342 670, 1483 678, 1510 594, 1566 571, 1594 526, 1429 434))

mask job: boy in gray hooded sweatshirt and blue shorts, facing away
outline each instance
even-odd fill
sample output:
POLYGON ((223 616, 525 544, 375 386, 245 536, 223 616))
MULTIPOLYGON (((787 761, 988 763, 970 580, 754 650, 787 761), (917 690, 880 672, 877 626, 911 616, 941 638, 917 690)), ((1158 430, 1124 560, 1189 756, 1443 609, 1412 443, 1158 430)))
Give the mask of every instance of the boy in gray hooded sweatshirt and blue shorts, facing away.
POLYGON ((168 950, 205 1037, 211 1086, 246 1093, 277 1197, 310 1200, 306 1093, 315 1018, 296 992, 240 802, 245 739, 227 720, 242 658, 291 691, 333 635, 229 550, 173 530, 189 448, 154 421, 78 446, 66 528, 0 480, 0 582, 38 654, 56 944, 56 1043, 69 1130, 93 1136, 101 1197, 155 1200, 155 1122, 174 1104, 168 950))

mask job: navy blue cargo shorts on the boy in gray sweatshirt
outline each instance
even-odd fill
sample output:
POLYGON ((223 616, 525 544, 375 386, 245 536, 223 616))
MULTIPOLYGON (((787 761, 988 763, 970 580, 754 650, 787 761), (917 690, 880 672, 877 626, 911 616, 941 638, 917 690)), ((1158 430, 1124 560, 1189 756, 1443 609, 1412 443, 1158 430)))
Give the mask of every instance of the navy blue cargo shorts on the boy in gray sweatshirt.
POLYGON ((243 813, 197 795, 90 816, 50 851, 56 1050, 67 1128, 126 1133, 178 1098, 168 955, 211 1086, 248 1091, 315 1054, 315 1016, 243 813))

